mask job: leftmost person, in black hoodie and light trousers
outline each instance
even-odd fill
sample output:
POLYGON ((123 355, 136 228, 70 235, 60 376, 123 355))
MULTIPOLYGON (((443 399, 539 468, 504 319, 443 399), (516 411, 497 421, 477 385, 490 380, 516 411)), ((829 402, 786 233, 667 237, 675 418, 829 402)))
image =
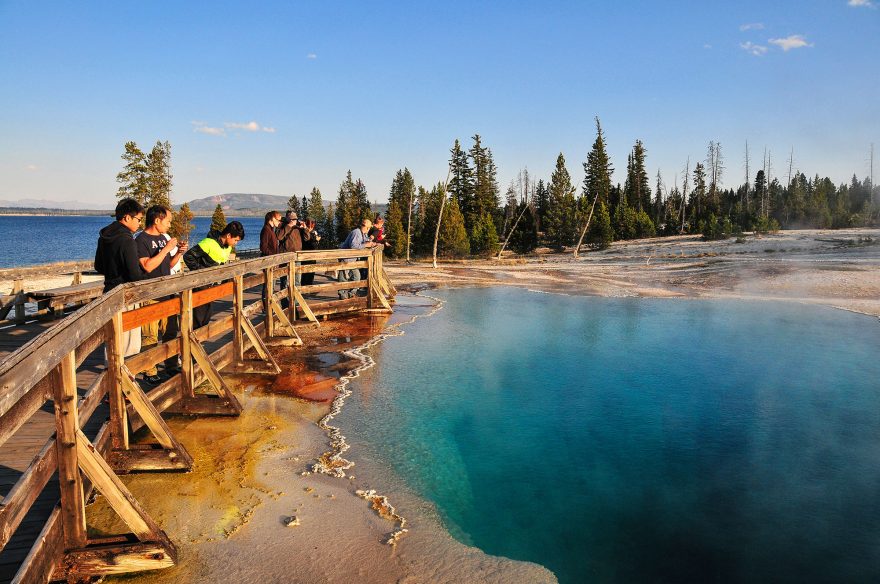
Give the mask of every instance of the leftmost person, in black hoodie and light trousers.
MULTIPOLYGON (((116 205, 116 221, 101 230, 95 250, 95 271, 104 276, 107 293, 125 282, 143 279, 138 263, 134 232, 140 229, 144 218, 143 206, 134 199, 122 199, 116 205)), ((128 357, 141 350, 141 330, 122 333, 122 352, 128 357)))

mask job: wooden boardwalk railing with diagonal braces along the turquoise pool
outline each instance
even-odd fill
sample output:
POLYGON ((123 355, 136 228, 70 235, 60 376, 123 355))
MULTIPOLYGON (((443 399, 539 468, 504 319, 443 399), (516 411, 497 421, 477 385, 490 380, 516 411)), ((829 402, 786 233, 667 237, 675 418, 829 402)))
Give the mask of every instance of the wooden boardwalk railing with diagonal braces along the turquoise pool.
POLYGON ((55 434, 47 432, 39 453, 0 502, 0 553, 56 475, 61 502, 13 582, 88 578, 174 565, 175 546, 117 476, 192 468, 192 458, 161 413, 238 415, 241 405, 220 369, 277 373, 280 369, 267 342, 301 344, 295 322, 318 323, 321 315, 353 310, 389 311, 394 293, 382 267, 381 248, 280 254, 119 286, 15 351, 0 363, 0 449, 47 401, 54 405, 55 434), (342 259, 355 261, 340 263, 342 259), (315 263, 300 265, 302 261, 315 263), (360 268, 367 270, 365 280, 295 285, 298 273, 360 268), (288 277, 287 287, 266 298, 268 314, 255 326, 251 318, 263 313, 264 302, 257 299, 245 304, 244 291, 260 284, 274 289, 282 275, 288 277), (356 288, 366 295, 311 301, 311 305, 304 298, 356 288), (231 300, 232 314, 194 329, 192 309, 223 298, 231 300), (289 303, 286 311, 281 308, 282 298, 289 303), (153 302, 138 307, 146 301, 153 302), (169 316, 179 318, 176 341, 123 356, 127 331, 169 316), (225 339, 230 330, 231 339, 209 355, 203 343, 221 334, 225 339), (79 395, 77 368, 102 346, 106 369, 79 395), (245 351, 251 347, 257 361, 245 360, 245 351), (135 375, 175 355, 180 356, 181 373, 145 392, 135 375), (206 380, 214 393, 196 393, 195 388, 206 380), (105 397, 109 398, 109 421, 90 440, 82 429, 105 397), (129 441, 130 433, 143 427, 156 444, 129 441), (101 538, 87 534, 86 501, 92 489, 104 495, 131 533, 101 538))

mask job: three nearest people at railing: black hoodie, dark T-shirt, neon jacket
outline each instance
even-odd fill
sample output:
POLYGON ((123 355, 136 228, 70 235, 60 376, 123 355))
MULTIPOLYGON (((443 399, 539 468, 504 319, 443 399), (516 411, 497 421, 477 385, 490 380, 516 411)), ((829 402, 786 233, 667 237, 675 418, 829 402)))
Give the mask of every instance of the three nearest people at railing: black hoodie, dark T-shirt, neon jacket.
MULTIPOLYGON (((101 229, 95 251, 95 270, 104 276, 104 292, 126 282, 138 282, 168 276, 180 270, 181 260, 190 270, 225 264, 233 247, 244 239, 244 227, 232 221, 223 231, 211 232, 198 245, 190 248, 186 241, 168 235, 173 211, 164 205, 144 209, 135 199, 122 199, 116 205, 116 220, 101 229), (133 237, 141 229, 143 230, 133 237)), ((160 300, 148 301, 148 303, 160 300)), ((199 328, 211 319, 211 305, 193 309, 193 327, 199 328)), ((139 353, 142 348, 174 340, 178 335, 177 316, 150 322, 123 334, 125 356, 139 353)), ((180 369, 177 357, 164 363, 167 376, 180 369)), ((144 379, 152 384, 163 381, 153 366, 144 372, 144 379)))

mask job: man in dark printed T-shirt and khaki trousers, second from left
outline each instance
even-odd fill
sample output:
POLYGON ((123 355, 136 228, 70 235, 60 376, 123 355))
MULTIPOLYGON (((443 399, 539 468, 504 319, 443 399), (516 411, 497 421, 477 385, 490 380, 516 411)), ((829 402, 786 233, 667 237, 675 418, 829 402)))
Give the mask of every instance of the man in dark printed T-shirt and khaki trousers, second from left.
MULTIPOLYGON (((150 207, 147 209, 147 228, 135 238, 138 262, 144 271, 145 278, 170 276, 172 268, 178 266, 180 258, 186 253, 186 243, 178 244, 177 238, 168 235, 168 229, 171 227, 171 215, 171 209, 164 205, 150 207)), ((155 304, 156 302, 158 300, 147 300, 144 304, 155 304)), ((177 330, 177 315, 160 318, 143 325, 141 327, 141 349, 159 344, 160 334, 163 343, 174 340, 177 337, 177 330)), ((165 361, 165 370, 168 373, 176 373, 176 356, 165 361)), ((144 379, 152 384, 162 381, 155 365, 151 365, 144 371, 144 379)))

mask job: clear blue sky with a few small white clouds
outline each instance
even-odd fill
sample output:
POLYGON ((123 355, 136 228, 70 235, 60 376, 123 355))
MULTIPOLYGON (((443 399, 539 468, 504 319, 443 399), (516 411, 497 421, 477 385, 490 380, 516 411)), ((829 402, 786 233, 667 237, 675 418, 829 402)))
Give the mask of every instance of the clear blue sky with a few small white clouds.
MULTIPOLYGON (((384 202, 446 177, 479 133, 502 191, 575 181, 599 116, 623 182, 636 139, 672 186, 722 144, 728 186, 766 147, 835 182, 880 174, 880 0, 174 3, 0 0, 0 199, 108 205, 123 144, 172 145, 174 200, 384 202)), ((876 180, 876 178, 875 178, 876 180)), ((653 179, 652 179, 653 186, 653 179)))

